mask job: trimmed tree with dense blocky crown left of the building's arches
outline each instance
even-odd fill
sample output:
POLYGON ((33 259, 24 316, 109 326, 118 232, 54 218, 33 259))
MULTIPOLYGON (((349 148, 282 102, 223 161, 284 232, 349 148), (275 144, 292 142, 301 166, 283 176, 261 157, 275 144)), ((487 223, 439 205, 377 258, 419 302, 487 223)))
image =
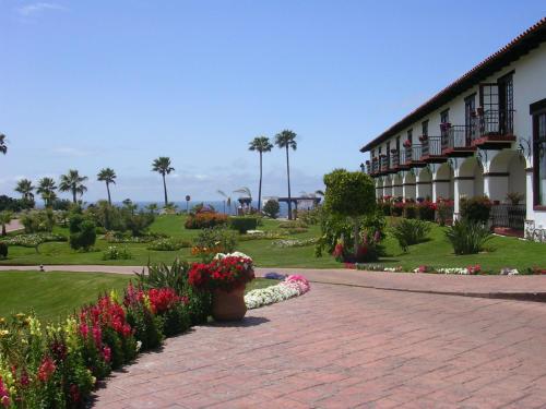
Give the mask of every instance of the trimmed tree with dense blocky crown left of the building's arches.
POLYGON ((376 208, 376 188, 366 173, 336 169, 324 175, 324 209, 353 222, 355 254, 358 252, 360 218, 376 208))

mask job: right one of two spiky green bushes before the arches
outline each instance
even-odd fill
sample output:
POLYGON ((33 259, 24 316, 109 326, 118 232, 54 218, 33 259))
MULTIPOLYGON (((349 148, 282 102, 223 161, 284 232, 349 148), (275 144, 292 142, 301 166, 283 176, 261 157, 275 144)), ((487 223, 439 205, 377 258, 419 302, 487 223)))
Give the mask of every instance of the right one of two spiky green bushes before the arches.
POLYGON ((460 255, 479 253, 492 236, 482 224, 461 219, 446 231, 446 237, 453 245, 454 253, 460 255))

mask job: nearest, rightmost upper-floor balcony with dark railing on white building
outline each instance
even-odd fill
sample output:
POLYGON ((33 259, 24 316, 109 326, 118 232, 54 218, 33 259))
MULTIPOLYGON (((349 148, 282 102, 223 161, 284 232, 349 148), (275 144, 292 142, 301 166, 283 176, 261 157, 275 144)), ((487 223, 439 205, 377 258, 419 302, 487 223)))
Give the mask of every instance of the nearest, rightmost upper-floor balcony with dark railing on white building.
POLYGON ((509 148, 515 142, 513 134, 513 109, 476 109, 476 131, 472 146, 483 149, 509 148))

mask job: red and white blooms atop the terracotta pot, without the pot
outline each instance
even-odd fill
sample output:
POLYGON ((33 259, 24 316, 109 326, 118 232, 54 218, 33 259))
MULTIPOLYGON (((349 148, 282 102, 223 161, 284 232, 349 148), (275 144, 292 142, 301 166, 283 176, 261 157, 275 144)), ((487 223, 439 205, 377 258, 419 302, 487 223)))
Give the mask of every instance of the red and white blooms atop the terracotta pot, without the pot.
POLYGON ((211 263, 194 263, 188 282, 200 290, 230 292, 254 279, 252 258, 242 253, 217 254, 211 263))

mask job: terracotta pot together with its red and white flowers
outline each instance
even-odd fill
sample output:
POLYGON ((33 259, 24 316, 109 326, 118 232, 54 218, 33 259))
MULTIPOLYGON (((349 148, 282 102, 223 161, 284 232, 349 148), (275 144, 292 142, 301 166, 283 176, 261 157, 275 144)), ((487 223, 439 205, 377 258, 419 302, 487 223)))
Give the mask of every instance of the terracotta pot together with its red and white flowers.
POLYGON ((189 272, 193 287, 213 294, 216 321, 240 321, 247 313, 245 286, 254 279, 252 258, 242 253, 218 253, 210 263, 194 263, 189 272))

